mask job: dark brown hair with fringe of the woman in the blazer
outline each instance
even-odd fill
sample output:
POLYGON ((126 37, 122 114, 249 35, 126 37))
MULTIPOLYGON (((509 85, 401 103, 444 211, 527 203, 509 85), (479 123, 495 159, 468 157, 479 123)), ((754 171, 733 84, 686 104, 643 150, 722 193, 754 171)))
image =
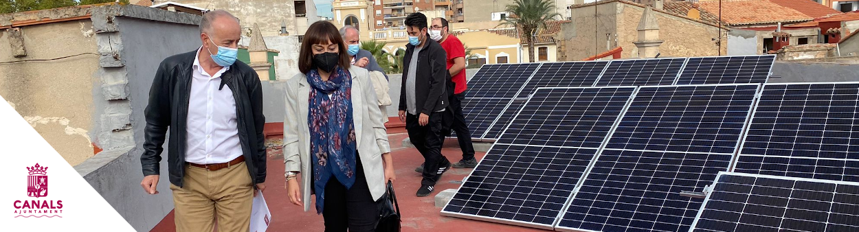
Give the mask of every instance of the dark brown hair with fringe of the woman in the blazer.
POLYGON ((308 27, 308 32, 304 34, 302 50, 298 52, 298 70, 304 74, 313 70, 315 68, 314 52, 312 50, 314 45, 327 44, 329 42, 339 46, 340 62, 338 62, 338 65, 343 69, 349 69, 349 53, 346 52, 346 43, 344 43, 343 37, 340 37, 340 31, 331 22, 316 21, 308 27))

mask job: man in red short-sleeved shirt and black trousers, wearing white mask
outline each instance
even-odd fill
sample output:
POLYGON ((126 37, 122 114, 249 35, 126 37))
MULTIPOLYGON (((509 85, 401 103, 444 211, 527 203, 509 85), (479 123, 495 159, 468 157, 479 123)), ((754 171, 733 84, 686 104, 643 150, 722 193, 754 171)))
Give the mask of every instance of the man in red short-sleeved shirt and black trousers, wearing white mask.
POLYGON ((448 32, 448 20, 435 18, 430 26, 430 39, 442 44, 445 52, 448 52, 448 72, 451 81, 456 85, 454 91, 448 94, 450 105, 448 108, 453 113, 451 129, 456 131, 456 138, 462 149, 462 160, 454 163, 454 168, 474 168, 478 165, 474 159, 474 146, 472 135, 468 131, 466 117, 462 115, 462 101, 466 98, 466 48, 462 46, 460 39, 448 32))

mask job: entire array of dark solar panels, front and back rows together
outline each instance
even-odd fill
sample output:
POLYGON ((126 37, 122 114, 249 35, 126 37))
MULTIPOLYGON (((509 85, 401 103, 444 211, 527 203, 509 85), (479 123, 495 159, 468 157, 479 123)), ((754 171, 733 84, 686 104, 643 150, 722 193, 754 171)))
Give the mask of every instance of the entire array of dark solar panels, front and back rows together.
POLYGON ((497 143, 442 214, 559 231, 859 229, 859 82, 758 84, 773 60, 540 64, 491 113, 510 116, 484 129, 497 143), (589 80, 609 87, 542 88, 589 80))

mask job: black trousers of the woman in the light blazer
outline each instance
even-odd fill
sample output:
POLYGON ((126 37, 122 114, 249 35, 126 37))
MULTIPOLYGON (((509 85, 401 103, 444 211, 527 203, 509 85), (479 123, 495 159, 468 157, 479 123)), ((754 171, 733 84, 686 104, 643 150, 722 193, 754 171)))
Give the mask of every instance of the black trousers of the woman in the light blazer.
POLYGON ((351 232, 372 232, 379 221, 379 207, 367 186, 361 157, 356 157, 356 160, 356 180, 351 188, 346 189, 333 176, 325 186, 322 217, 325 218, 326 232, 346 232, 347 229, 351 232))

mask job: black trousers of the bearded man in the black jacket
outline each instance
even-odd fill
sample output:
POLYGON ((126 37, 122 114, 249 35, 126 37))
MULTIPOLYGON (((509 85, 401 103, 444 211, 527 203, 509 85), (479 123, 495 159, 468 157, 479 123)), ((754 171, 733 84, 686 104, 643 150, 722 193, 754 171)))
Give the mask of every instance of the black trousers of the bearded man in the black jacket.
POLYGON ((448 158, 442 156, 442 117, 445 112, 430 114, 430 122, 421 126, 417 123, 417 115, 409 113, 405 116, 405 130, 409 131, 411 144, 415 145, 417 151, 423 156, 423 180, 421 185, 436 186, 439 168, 447 167, 450 163, 448 158))

